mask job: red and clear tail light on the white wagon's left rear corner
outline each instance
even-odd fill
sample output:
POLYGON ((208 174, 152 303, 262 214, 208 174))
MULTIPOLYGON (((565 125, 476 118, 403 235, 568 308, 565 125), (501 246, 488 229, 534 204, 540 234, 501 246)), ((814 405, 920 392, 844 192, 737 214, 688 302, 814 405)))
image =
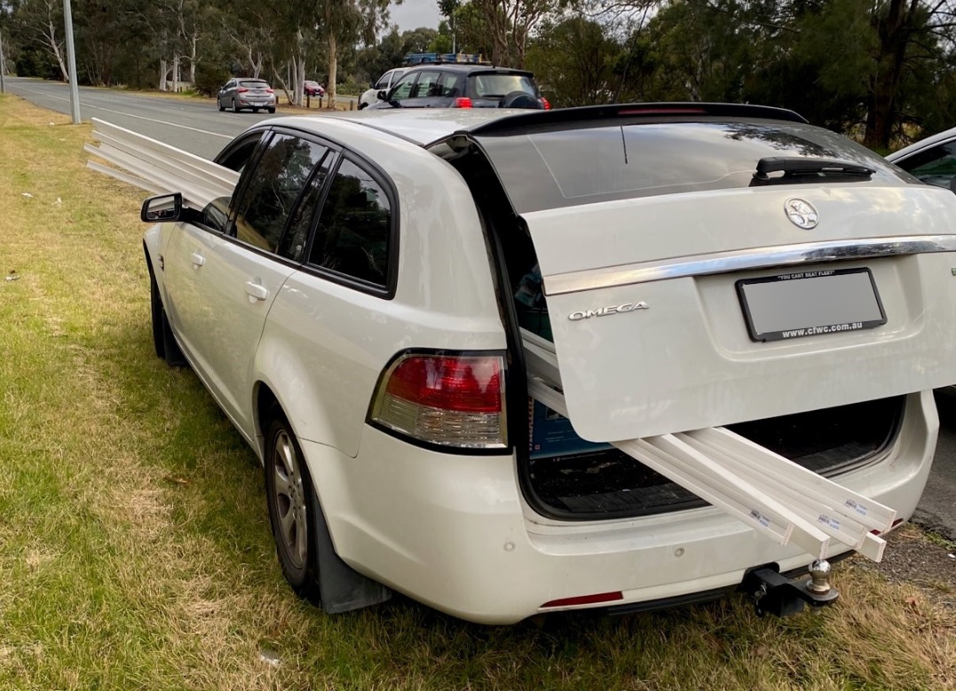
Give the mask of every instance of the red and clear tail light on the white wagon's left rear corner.
POLYGON ((505 448, 502 356, 407 354, 385 371, 371 420, 420 442, 505 448))

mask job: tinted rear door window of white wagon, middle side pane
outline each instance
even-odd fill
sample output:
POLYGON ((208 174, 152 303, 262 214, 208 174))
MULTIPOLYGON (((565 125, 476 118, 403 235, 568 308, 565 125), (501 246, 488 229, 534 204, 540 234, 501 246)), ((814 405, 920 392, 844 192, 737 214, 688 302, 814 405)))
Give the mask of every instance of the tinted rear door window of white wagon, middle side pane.
POLYGON ((235 235, 253 247, 274 252, 295 201, 326 148, 287 134, 275 134, 238 200, 235 235))

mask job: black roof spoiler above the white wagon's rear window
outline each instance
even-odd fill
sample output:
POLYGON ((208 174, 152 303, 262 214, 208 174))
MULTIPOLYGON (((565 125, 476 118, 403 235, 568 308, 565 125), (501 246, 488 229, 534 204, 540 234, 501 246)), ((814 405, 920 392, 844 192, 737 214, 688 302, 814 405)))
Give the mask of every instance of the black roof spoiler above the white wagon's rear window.
POLYGON ((492 120, 468 130, 471 135, 504 134, 512 129, 528 129, 534 126, 560 125, 566 122, 593 122, 615 119, 694 119, 704 118, 750 118, 773 119, 807 124, 808 120, 786 108, 747 103, 612 103, 588 105, 554 110, 532 110, 527 114, 492 120))

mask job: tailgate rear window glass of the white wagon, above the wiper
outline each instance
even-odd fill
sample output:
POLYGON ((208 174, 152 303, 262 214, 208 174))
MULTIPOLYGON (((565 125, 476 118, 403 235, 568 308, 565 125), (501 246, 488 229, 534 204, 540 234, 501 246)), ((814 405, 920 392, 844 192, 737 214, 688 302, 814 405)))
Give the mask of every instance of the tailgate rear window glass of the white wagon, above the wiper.
POLYGON ((478 140, 518 213, 747 187, 757 162, 773 156, 858 162, 877 170, 873 180, 901 180, 869 149, 829 130, 798 123, 624 124, 487 135, 478 140))

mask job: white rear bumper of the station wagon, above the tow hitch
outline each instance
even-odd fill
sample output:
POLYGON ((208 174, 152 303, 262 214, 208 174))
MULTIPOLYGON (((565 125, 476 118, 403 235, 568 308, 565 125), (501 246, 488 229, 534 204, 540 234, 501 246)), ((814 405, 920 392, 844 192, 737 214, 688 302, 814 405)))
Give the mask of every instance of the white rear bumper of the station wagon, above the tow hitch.
MULTIPOLYGON (((838 478, 908 518, 929 472, 939 421, 931 392, 907 399, 880 461, 838 478)), ((619 593, 599 607, 692 601, 744 572, 812 560, 712 507, 639 519, 550 521, 524 502, 510 456, 434 453, 366 427, 357 458, 305 442, 338 554, 353 568, 448 614, 484 623, 596 605, 544 603, 619 593)))

